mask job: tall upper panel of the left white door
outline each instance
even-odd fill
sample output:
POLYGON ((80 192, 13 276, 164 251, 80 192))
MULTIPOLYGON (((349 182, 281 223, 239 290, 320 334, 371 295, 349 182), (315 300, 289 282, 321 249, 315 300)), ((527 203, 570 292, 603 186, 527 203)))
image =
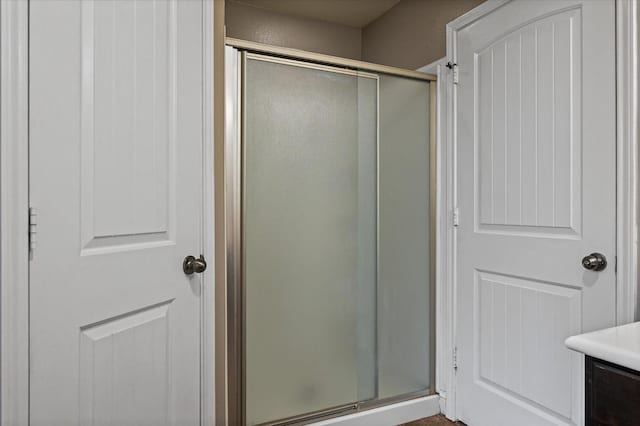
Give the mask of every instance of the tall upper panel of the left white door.
POLYGON ((81 9, 81 55, 93 59, 81 65, 83 252, 166 243, 175 227, 176 3, 81 9))

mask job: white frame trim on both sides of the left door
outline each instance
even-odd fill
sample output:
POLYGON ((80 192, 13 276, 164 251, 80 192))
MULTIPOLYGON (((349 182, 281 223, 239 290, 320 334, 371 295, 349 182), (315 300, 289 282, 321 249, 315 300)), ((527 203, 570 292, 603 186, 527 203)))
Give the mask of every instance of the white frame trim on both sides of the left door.
MULTIPOLYGON (((203 8, 203 237, 214 258, 214 0, 203 8)), ((215 0, 215 3, 218 3, 215 0)), ((215 25, 214 25, 215 22, 215 25)), ((29 2, 0 0, 0 426, 29 424, 29 2)), ((214 274, 202 274, 200 423, 215 418, 214 274)))

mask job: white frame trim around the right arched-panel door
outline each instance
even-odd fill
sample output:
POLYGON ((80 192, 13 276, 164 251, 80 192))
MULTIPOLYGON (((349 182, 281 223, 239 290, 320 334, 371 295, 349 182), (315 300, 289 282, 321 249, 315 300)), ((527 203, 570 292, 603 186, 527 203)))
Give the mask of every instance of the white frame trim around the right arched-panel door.
MULTIPOLYGON (((446 118, 440 120, 446 126, 439 144, 448 149, 442 152, 442 173, 452 179, 451 185, 441 188, 445 219, 440 221, 441 245, 438 268, 440 279, 438 290, 448 295, 443 298, 439 319, 444 326, 438 331, 447 338, 440 341, 448 345, 441 351, 450 356, 443 357, 438 365, 440 387, 446 390, 442 412, 447 418, 457 420, 456 409, 456 341, 457 341, 457 282, 456 282, 456 227, 452 218, 456 211, 457 199, 457 158, 456 158, 456 84, 453 74, 459 72, 457 62, 457 33, 490 12, 510 1, 487 0, 461 17, 447 24, 447 61, 453 64, 447 90, 442 93, 441 111, 446 118), (441 142, 441 143, 440 143, 441 142), (446 210, 444 210, 446 209, 446 210)), ((640 71, 638 49, 640 48, 640 7, 636 0, 616 0, 616 63, 603 66, 616 67, 616 323, 618 325, 635 321, 638 316, 638 137, 640 135, 638 90, 640 71)), ((439 353, 441 353, 439 351, 439 353)))

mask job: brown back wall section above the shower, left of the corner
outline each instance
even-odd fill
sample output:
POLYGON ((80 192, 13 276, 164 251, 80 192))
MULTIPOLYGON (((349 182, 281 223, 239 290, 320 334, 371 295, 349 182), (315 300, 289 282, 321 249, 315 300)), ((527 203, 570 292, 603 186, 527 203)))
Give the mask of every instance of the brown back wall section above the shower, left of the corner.
POLYGON ((310 52, 361 58, 359 28, 314 19, 291 17, 272 11, 226 2, 227 36, 310 52))

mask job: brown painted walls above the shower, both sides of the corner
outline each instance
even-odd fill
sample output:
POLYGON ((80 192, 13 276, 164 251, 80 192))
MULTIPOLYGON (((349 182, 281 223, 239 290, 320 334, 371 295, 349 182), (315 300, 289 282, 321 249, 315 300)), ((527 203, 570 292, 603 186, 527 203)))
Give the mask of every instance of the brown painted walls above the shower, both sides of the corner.
POLYGON ((226 30, 229 37, 418 69, 445 55, 447 23, 483 1, 401 0, 354 28, 227 0, 226 30))

